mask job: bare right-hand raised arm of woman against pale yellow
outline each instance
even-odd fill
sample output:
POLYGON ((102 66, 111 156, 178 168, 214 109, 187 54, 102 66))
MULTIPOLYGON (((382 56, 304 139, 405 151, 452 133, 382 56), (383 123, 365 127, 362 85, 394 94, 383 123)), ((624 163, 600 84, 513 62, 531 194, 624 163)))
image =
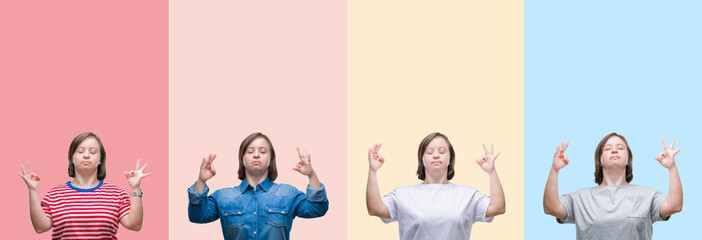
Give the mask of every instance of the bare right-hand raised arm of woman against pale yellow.
POLYGON ((487 146, 483 144, 483 150, 485 150, 485 156, 475 160, 480 168, 483 169, 488 176, 490 176, 490 205, 485 212, 485 217, 494 217, 500 214, 504 214, 505 207, 505 192, 502 190, 502 183, 500 183, 500 178, 497 176, 497 170, 495 170, 495 159, 500 156, 500 153, 493 155, 494 145, 490 145, 490 150, 488 151, 487 146))

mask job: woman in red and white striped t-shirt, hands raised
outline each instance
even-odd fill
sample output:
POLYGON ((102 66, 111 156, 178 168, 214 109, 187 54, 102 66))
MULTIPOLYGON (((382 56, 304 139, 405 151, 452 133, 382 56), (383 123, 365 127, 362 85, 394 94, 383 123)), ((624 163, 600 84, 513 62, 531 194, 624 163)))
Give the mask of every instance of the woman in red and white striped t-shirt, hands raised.
POLYGON ((141 179, 146 164, 124 172, 131 197, 117 185, 105 183, 106 154, 100 137, 81 133, 68 150, 68 176, 73 181, 57 185, 39 201, 40 177, 21 166, 20 177, 29 189, 29 214, 37 233, 53 228, 52 239, 117 239, 119 223, 139 231, 144 219, 141 179))

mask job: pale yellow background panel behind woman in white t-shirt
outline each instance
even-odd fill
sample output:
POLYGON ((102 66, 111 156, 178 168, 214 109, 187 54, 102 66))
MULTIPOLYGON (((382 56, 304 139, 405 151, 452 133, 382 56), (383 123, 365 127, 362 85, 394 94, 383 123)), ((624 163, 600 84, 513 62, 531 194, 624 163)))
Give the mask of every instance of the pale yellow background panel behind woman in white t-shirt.
POLYGON ((397 239, 397 223, 367 214, 368 148, 383 143, 381 195, 419 184, 417 147, 430 132, 456 150, 451 181, 489 194, 475 163, 482 143, 507 212, 473 225, 471 239, 523 238, 522 1, 349 1, 348 236, 397 239))

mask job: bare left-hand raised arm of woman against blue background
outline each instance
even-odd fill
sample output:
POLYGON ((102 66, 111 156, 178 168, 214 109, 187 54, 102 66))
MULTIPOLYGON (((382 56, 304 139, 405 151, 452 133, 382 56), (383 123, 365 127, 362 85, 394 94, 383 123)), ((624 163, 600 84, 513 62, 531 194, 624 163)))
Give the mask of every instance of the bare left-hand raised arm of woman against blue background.
POLYGON ((548 174, 548 180, 546 180, 546 189, 544 189, 544 212, 557 218, 568 217, 565 206, 558 198, 558 171, 570 162, 565 154, 566 148, 568 148, 568 142, 561 142, 561 145, 556 147, 556 153, 553 154, 553 165, 551 165, 551 171, 548 174))

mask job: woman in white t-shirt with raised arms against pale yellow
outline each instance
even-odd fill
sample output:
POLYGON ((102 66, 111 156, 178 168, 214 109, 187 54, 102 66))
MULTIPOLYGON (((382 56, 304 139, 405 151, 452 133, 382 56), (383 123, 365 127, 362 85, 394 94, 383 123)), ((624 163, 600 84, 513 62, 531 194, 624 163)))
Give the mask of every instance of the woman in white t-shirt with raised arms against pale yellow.
POLYGON ((446 135, 431 133, 419 144, 418 185, 396 188, 380 197, 376 173, 385 159, 378 154, 380 144, 368 150, 368 213, 385 223, 399 222, 400 239, 470 239, 474 222, 491 222, 505 213, 505 196, 495 170, 492 146, 483 144, 485 156, 476 160, 490 177, 490 196, 475 188, 450 183, 454 176, 456 153, 446 135))

